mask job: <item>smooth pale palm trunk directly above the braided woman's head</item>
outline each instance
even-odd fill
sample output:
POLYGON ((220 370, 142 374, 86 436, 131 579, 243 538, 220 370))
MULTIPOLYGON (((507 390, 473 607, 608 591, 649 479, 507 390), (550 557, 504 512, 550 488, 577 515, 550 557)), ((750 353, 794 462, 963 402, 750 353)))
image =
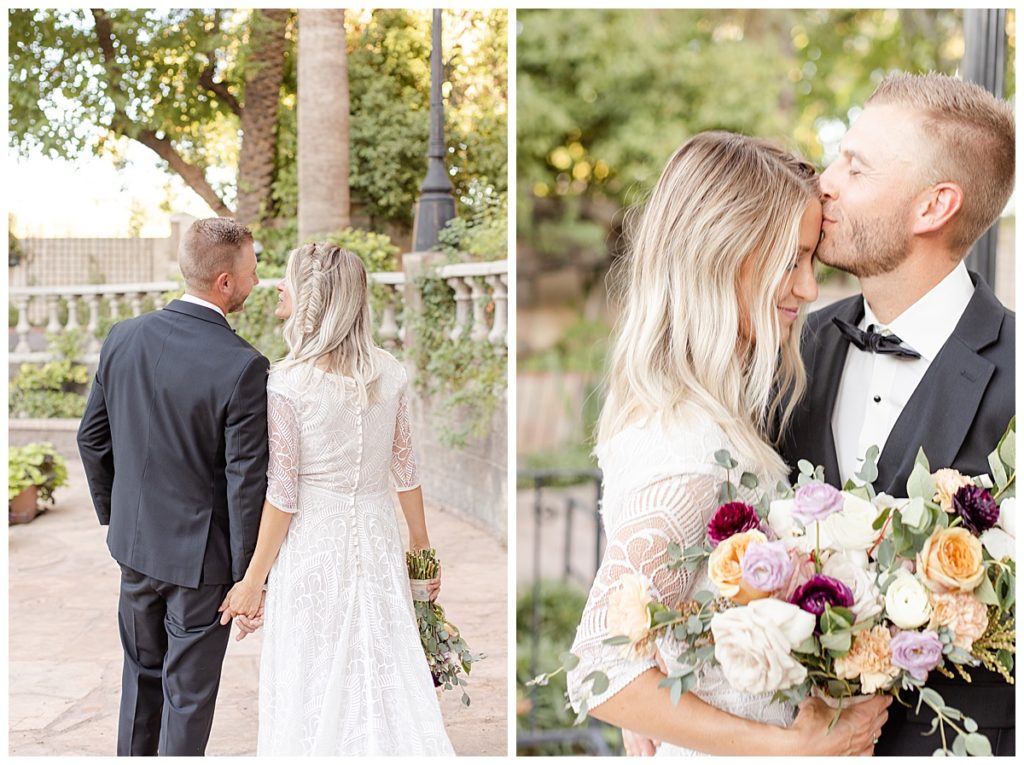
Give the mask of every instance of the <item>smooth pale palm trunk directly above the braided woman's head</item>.
POLYGON ((345 11, 299 10, 299 239, 349 225, 345 11))

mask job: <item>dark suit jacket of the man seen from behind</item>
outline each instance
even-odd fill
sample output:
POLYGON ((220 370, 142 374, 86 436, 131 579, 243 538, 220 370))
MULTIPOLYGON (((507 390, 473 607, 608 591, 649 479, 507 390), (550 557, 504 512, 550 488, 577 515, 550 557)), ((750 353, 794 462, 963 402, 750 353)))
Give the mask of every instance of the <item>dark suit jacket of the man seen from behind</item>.
POLYGON ((114 326, 78 447, 119 563, 183 587, 242 579, 266 492, 268 367, 194 303, 114 326))

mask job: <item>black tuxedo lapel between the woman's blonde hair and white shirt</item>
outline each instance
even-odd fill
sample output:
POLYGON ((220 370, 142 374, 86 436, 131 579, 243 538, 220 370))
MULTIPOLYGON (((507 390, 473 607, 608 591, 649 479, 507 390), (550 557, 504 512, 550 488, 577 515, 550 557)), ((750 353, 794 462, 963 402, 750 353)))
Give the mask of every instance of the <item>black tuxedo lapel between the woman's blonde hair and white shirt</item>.
MULTIPOLYGON (((858 296, 848 301, 836 313, 839 318, 850 324, 858 324, 863 318, 863 300, 858 296)), ((825 322, 808 342, 813 344, 814 358, 808 380, 806 408, 816 413, 807 424, 809 433, 808 454, 801 455, 809 462, 820 463, 825 469, 825 481, 840 485, 839 458, 836 456, 836 438, 833 434, 831 416, 839 396, 839 384, 843 377, 843 366, 850 348, 840 334, 839 328, 830 321, 825 322)))

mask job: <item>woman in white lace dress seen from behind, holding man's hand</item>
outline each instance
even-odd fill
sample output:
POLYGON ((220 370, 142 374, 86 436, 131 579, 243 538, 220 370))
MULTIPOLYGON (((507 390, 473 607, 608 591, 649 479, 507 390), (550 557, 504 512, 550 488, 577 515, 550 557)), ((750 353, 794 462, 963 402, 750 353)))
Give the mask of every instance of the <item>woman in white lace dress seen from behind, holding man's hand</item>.
POLYGON ((303 246, 279 290, 290 350, 267 382, 266 505, 225 601, 254 615, 266 581, 257 754, 454 755, 392 499, 411 547, 429 547, 404 368, 373 345, 352 253, 303 246))

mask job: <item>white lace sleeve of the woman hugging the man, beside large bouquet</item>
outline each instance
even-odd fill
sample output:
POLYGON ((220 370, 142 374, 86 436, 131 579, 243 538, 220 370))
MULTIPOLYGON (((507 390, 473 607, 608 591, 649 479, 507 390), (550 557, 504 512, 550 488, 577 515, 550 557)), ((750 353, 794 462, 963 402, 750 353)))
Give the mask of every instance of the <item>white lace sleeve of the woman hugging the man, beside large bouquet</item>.
MULTIPOLYGON (((676 475, 656 480, 630 495, 621 508, 605 508, 605 517, 621 519, 608 532, 608 547, 584 609, 572 652, 580 664, 568 674, 568 694, 579 712, 587 700, 594 709, 621 691, 646 670, 656 667, 653 657, 634 655, 629 646, 605 645, 609 596, 626 575, 638 575, 657 601, 675 605, 688 597, 695 575, 683 568, 669 570, 668 547, 682 547, 703 539, 715 506, 717 481, 708 475, 676 475), (599 670, 608 676, 608 689, 592 695, 584 679, 599 670)), ((668 658, 679 653, 671 636, 659 638, 657 649, 668 658)))

